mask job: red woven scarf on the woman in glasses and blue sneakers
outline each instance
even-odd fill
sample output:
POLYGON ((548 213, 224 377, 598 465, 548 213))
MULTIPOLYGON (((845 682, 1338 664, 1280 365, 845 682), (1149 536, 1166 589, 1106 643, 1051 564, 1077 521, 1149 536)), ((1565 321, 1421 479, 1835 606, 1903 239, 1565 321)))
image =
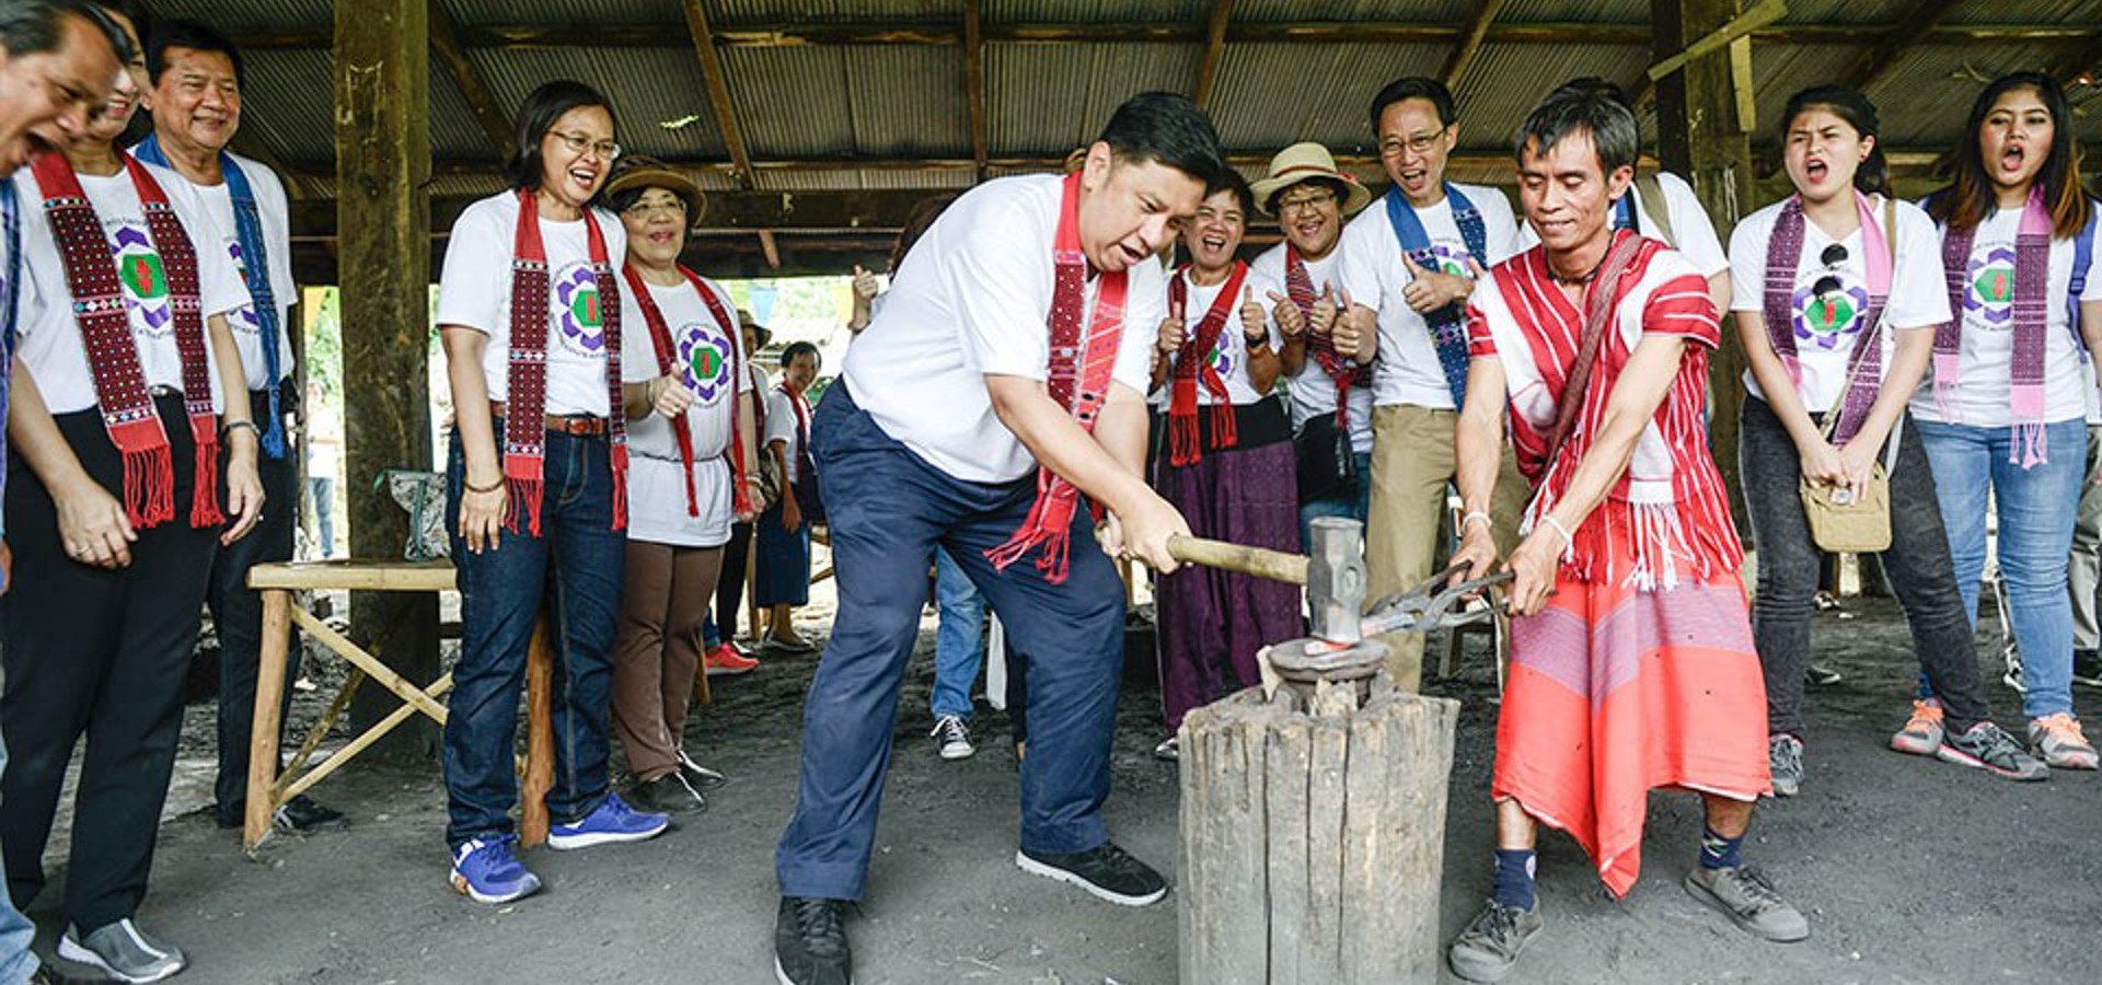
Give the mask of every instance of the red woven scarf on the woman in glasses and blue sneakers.
MULTIPOLYGON (((605 437, 614 460, 614 529, 628 527, 628 431, 620 414, 620 286, 605 254, 605 233, 597 216, 584 210, 584 235, 591 242, 591 277, 599 292, 599 323, 605 328, 605 437)), ((645 292, 647 294, 647 292, 645 292)), ((511 370, 504 418, 504 479, 511 483, 513 533, 519 515, 526 527, 540 536, 540 500, 547 494, 547 246, 540 244, 540 202, 532 189, 519 189, 519 227, 511 246, 511 370)))

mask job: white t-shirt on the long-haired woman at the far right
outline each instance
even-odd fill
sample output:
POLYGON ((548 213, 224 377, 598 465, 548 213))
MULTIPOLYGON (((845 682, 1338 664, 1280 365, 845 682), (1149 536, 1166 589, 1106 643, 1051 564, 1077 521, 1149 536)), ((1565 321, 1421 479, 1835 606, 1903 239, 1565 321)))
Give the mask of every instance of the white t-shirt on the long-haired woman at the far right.
MULTIPOLYGON (((1961 376, 1951 395, 1955 424, 1980 428, 2014 424, 2010 403, 2007 361, 2014 357, 2014 237, 2022 227, 2020 208, 1995 210, 1978 223, 1972 237, 1967 286, 1963 290, 1961 376)), ((1936 244, 1938 248, 1938 244, 1936 244)), ((2087 416, 2087 378, 2081 372, 2081 347, 2066 321, 2066 294, 2073 288, 2073 239, 2052 239, 2052 277, 2043 326, 2043 420, 2060 422, 2087 416)), ((1936 286, 1936 290, 1946 290, 1936 286)), ((2087 288, 2081 300, 2102 300, 2102 250, 2087 265, 2087 288)), ((1942 420, 1934 407, 1934 370, 1913 393, 1913 414, 1919 420, 1942 420)))

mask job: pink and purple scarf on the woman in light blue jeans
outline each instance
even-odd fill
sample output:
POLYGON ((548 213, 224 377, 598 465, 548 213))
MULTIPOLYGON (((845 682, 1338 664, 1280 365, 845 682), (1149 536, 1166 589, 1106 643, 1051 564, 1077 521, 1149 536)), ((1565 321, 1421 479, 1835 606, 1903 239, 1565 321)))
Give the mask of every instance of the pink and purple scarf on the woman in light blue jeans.
POLYGON ((2049 460, 2043 441, 2043 355, 2052 290, 2052 212, 2043 208, 2043 185, 2031 185, 2022 206, 2022 227, 2014 235, 2014 275, 1993 273, 1984 263, 1972 271, 1972 239, 1978 229, 1942 233, 1942 277, 1949 284, 1951 319, 1934 330, 1934 407, 1942 420, 1957 420, 1955 391, 1963 365, 1963 317, 1980 311, 1991 319, 1991 300, 2010 298, 2014 355, 2007 359, 2007 403, 2014 407, 2014 447, 2007 462, 2035 468, 2049 460), (1976 279, 1978 298, 1972 298, 1976 279))

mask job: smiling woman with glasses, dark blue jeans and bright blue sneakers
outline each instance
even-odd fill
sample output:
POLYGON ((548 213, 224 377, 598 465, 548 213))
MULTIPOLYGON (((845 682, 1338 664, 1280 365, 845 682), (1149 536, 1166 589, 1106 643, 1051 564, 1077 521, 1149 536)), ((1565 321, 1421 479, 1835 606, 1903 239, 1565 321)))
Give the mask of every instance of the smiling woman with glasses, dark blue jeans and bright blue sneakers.
MULTIPOLYGON (((452 884, 479 903, 540 888, 511 853, 513 735, 534 617, 555 649, 551 848, 652 838, 664 815, 607 788, 605 729, 626 548, 620 267, 595 208, 620 145, 605 99, 549 82, 519 109, 513 189, 460 212, 439 277, 456 426, 460 662, 446 720, 452 884)), ((641 326, 637 326, 639 330, 641 326)))

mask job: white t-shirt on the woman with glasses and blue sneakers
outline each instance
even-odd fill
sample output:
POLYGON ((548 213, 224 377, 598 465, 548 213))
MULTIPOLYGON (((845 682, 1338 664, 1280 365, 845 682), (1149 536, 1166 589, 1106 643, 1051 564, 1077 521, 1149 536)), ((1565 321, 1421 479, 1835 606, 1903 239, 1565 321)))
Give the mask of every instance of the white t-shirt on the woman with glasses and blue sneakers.
MULTIPOLYGON (((628 233, 612 212, 591 210, 605 233, 605 256, 614 271, 628 256, 628 233)), ((446 244, 446 269, 437 281, 437 323, 473 328, 490 336, 481 376, 490 399, 511 399, 511 254, 517 239, 519 200, 515 191, 490 195, 460 212, 446 244)), ((607 416, 605 323, 599 315, 599 284, 591 275, 591 239, 584 221, 540 218, 547 250, 547 414, 607 416)), ((616 273, 618 277, 618 273, 616 273)))

